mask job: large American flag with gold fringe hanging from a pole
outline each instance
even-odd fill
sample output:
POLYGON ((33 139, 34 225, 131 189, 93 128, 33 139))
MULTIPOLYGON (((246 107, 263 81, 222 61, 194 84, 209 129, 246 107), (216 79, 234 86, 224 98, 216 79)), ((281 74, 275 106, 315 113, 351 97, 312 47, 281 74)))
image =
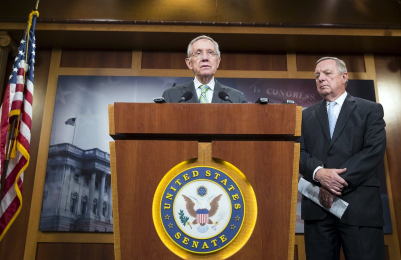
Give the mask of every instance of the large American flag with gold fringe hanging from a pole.
POLYGON ((34 94, 35 25, 38 11, 29 15, 27 28, 21 40, 13 71, 0 108, 0 175, 5 181, 0 201, 0 240, 21 211, 24 170, 29 164, 31 142, 32 101, 34 94), (11 118, 15 118, 16 138, 7 165, 6 146, 12 133, 11 118))

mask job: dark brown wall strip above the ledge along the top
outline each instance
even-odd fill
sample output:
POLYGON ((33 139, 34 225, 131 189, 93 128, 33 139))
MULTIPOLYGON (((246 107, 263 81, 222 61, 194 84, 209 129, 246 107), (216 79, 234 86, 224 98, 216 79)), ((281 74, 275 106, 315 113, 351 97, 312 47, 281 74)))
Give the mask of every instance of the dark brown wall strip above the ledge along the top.
MULTIPOLYGON (((0 17, 25 19, 32 0, 3 0, 0 17)), ((42 19, 117 19, 399 25, 396 0, 58 0, 40 1, 42 19)))

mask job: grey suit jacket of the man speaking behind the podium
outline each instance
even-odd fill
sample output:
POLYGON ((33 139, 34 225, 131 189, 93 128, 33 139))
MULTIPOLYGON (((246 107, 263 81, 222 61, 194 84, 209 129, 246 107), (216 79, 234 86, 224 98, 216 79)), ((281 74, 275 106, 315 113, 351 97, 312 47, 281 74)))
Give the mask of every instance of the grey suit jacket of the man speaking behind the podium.
MULTIPOLYGON (((219 92, 222 90, 225 90, 227 92, 227 94, 230 96, 230 99, 233 101, 233 103, 246 103, 247 102, 247 98, 245 97, 245 94, 243 92, 241 92, 237 89, 234 89, 232 87, 225 86, 225 85, 221 84, 219 81, 217 81, 215 78, 215 89, 213 90, 212 103, 229 103, 230 102, 230 101, 224 101, 224 100, 220 99, 219 92)), ((164 97, 164 100, 166 100, 167 102, 177 102, 179 99, 181 99, 182 94, 187 91, 192 92, 192 97, 185 102, 198 103, 199 100, 197 98, 193 80, 190 80, 183 84, 168 88, 167 90, 165 90, 163 92, 163 97, 164 97)))

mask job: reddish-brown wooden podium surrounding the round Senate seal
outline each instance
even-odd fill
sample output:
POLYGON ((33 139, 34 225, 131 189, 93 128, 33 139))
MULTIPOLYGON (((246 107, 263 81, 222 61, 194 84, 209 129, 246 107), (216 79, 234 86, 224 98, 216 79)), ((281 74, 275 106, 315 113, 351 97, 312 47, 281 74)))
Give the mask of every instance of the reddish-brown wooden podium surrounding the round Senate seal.
POLYGON ((202 160, 235 165, 256 196, 254 227, 241 229, 249 240, 230 259, 294 259, 301 114, 295 104, 110 105, 115 258, 179 259, 156 231, 152 201, 168 171, 202 160))

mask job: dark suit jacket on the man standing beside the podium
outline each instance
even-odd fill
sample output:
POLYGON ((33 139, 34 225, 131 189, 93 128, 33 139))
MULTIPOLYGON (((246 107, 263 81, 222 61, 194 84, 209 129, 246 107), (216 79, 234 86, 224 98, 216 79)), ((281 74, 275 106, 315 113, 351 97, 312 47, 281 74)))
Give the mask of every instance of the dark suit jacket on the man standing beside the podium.
MULTIPOLYGON (((377 176, 386 137, 383 107, 347 94, 330 140, 326 100, 302 112, 299 172, 308 181, 319 165, 347 168, 340 176, 348 187, 339 196, 349 203, 340 222, 361 226, 384 225, 377 176)), ((323 219, 327 211, 302 197, 302 219, 323 219)))

